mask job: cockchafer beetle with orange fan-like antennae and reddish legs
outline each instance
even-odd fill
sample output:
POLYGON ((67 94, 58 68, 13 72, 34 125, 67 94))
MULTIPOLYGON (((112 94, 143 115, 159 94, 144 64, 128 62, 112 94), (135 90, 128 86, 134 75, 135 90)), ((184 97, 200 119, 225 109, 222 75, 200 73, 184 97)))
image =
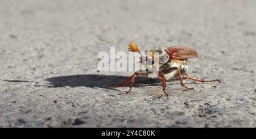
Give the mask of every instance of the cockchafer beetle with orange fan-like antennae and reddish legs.
MULTIPOLYGON (((135 44, 133 41, 129 44, 129 51, 131 52, 138 52, 139 51, 138 45, 135 44)), ((191 79, 193 81, 198 82, 221 82, 220 79, 213 79, 213 80, 204 80, 200 78, 193 78, 188 76, 188 58, 191 57, 198 57, 198 54, 195 49, 192 49, 187 46, 170 46, 170 47, 153 47, 151 49, 145 50, 145 53, 150 53, 150 56, 152 58, 152 63, 154 65, 154 60, 158 60, 158 68, 159 73, 158 77, 162 78, 162 87, 163 92, 168 98, 168 94, 166 92, 166 81, 175 81, 179 80, 180 85, 185 87, 188 90, 194 90, 193 87, 187 87, 183 83, 183 79, 191 79), (155 57, 155 52, 158 52, 158 57, 155 57)), ((142 59, 146 59, 146 56, 143 56, 141 54, 141 61, 142 59)), ((140 62, 141 62, 140 61, 140 62)), ((150 74, 152 71, 143 70, 143 71, 137 71, 131 77, 127 78, 127 80, 122 85, 109 85, 108 87, 123 87, 126 86, 130 82, 130 90, 126 91, 126 94, 128 94, 135 81, 135 76, 139 77, 145 77, 148 74, 150 74)))

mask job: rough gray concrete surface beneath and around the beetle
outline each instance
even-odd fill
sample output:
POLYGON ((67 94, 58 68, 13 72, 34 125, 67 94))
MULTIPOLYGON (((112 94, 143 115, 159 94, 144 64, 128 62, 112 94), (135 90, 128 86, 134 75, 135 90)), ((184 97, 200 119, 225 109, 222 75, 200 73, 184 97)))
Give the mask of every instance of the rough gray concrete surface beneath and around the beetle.
POLYGON ((0 127, 256 127, 256 1, 0 1, 0 127), (189 45, 190 75, 97 71, 97 54, 189 45))

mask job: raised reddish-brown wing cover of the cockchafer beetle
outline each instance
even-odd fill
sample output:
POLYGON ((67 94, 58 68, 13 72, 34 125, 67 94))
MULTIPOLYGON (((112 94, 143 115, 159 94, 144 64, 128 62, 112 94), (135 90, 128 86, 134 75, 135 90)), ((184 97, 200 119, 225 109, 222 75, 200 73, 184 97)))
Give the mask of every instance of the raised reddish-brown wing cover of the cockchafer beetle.
POLYGON ((170 58, 177 60, 187 60, 190 57, 198 57, 195 49, 186 46, 167 47, 166 52, 169 54, 170 58))

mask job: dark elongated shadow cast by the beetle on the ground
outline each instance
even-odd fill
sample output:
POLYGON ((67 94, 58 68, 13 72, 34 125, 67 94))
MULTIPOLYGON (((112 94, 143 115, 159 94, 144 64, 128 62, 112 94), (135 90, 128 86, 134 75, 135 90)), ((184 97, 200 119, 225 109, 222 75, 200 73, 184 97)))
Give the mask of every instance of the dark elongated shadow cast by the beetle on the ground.
MULTIPOLYGON (((91 88, 106 88, 108 85, 122 85, 129 77, 119 75, 98 75, 98 74, 84 74, 84 75, 68 75, 61 77, 47 78, 47 87, 91 87, 91 88)), ((134 87, 140 86, 159 86, 160 80, 136 77, 134 87)), ((37 85, 36 85, 37 86, 37 85)), ((127 85, 129 86, 129 84, 127 85)))

